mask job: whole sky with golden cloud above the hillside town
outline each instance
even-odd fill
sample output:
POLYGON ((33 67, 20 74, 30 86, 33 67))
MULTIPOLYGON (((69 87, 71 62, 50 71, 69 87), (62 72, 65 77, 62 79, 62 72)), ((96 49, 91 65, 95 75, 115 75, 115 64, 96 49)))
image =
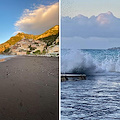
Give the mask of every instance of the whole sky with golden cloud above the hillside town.
POLYGON ((58 0, 0 0, 0 44, 18 32, 41 34, 58 24, 58 7, 58 0))

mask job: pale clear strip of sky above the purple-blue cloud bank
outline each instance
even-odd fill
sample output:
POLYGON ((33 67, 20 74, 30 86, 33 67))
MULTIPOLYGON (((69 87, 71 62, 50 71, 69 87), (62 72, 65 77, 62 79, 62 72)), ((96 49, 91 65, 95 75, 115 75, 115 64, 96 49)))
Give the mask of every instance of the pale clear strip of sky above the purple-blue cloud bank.
POLYGON ((120 18, 120 0, 61 0, 62 16, 98 15, 111 11, 120 18))

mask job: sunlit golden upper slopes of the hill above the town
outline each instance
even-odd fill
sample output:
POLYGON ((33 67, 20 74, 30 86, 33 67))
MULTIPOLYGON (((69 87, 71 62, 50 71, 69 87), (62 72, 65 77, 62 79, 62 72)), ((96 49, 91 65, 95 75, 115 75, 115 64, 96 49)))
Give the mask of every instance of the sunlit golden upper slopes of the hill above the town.
MULTIPOLYGON (((0 53, 4 52, 8 48, 10 48, 12 45, 15 45, 17 42, 19 42, 23 38, 33 39, 33 40, 38 40, 38 39, 40 40, 40 39, 46 39, 47 38, 46 41, 45 41, 47 43, 47 42, 51 41, 48 38, 54 38, 54 40, 55 40, 58 37, 58 34, 59 34, 59 26, 58 25, 52 27, 51 29, 47 30, 45 33, 43 33, 41 35, 18 33, 16 36, 11 37, 5 43, 0 44, 0 53)), ((52 43, 49 43, 49 45, 51 45, 51 44, 52 43)))

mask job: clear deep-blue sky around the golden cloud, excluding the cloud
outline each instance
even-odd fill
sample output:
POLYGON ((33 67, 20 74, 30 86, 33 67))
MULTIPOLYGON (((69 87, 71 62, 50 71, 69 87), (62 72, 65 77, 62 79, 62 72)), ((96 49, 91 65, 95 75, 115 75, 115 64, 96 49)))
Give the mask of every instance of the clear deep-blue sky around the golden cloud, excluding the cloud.
POLYGON ((33 10, 35 6, 48 6, 56 2, 58 0, 0 0, 0 43, 17 31, 15 23, 23 16, 25 9, 33 10))

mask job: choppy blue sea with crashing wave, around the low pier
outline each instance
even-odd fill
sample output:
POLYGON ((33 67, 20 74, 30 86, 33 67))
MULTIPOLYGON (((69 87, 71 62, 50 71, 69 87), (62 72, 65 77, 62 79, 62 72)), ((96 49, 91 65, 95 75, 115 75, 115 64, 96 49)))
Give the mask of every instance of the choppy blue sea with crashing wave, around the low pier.
POLYGON ((61 72, 87 75, 61 83, 62 120, 120 119, 119 49, 63 49, 61 72))

